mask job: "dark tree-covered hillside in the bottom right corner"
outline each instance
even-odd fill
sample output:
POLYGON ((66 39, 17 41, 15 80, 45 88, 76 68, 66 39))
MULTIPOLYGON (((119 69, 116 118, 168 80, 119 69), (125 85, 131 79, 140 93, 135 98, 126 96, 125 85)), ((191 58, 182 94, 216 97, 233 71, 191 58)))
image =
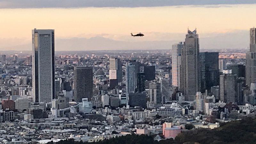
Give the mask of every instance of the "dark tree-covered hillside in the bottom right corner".
POLYGON ((241 144, 241 143, 255 143, 256 141, 256 119, 245 118, 243 120, 232 121, 223 124, 222 127, 216 129, 198 129, 190 130, 179 134, 175 141, 184 142, 198 142, 201 144, 241 144))

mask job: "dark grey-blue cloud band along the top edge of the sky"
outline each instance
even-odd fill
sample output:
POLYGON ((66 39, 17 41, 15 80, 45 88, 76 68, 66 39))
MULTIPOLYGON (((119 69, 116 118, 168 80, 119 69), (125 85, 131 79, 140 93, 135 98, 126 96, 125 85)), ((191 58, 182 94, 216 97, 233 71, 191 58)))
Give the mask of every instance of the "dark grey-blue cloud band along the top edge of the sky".
POLYGON ((0 8, 155 7, 252 4, 255 0, 1 0, 0 8))

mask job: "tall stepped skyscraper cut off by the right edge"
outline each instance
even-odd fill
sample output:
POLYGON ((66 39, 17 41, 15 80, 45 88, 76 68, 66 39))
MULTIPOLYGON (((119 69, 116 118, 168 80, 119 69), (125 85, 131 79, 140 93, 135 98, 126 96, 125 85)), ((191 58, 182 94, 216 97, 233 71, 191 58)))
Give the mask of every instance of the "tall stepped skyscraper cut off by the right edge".
POLYGON ((250 52, 246 53, 246 84, 256 83, 256 28, 250 29, 250 52))

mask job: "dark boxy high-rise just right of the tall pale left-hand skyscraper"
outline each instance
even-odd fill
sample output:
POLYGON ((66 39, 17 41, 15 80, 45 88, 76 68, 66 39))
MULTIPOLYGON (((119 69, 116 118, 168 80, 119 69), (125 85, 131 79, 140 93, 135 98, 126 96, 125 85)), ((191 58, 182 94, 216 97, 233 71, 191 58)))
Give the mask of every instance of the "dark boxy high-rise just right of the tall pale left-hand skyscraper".
POLYGON ((92 98, 92 66, 76 66, 74 68, 74 98, 77 102, 82 102, 83 98, 92 98))

